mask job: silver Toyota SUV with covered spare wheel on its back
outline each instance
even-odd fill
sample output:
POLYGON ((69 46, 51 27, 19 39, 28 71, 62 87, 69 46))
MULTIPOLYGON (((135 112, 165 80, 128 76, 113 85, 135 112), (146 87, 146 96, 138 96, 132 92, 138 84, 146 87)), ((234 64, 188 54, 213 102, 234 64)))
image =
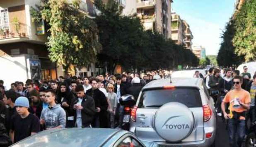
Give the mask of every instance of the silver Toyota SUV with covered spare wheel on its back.
POLYGON ((130 131, 158 147, 210 147, 216 123, 203 79, 160 79, 142 88, 131 111, 130 131))

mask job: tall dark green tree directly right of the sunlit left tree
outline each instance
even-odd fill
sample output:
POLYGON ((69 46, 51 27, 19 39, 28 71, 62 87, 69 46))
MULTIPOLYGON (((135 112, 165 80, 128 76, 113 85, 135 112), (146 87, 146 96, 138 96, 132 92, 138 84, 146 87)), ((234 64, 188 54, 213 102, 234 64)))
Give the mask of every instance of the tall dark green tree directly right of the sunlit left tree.
POLYGON ((99 42, 103 50, 98 55, 100 62, 109 62, 113 72, 120 64, 125 69, 135 69, 142 60, 142 38, 144 30, 136 16, 121 16, 118 2, 109 0, 107 4, 96 0, 95 5, 101 11, 96 17, 99 28, 99 42))

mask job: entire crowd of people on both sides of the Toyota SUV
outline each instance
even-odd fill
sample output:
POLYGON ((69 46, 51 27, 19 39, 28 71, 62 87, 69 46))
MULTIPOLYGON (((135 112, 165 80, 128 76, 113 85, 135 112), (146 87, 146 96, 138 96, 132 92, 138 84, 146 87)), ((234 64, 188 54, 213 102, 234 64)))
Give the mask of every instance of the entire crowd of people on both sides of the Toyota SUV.
MULTIPOLYGON (((215 102, 218 116, 227 119, 230 146, 240 147, 246 122, 256 121, 256 74, 232 69, 210 68, 203 75, 205 87, 215 102), (239 104, 237 107, 235 103, 239 104)), ((147 74, 123 73, 65 78, 50 81, 17 81, 6 90, 0 80, 0 146, 8 146, 42 130, 72 127, 117 128, 123 121, 119 99, 126 94, 138 97, 144 85, 167 78, 171 71, 147 74)))

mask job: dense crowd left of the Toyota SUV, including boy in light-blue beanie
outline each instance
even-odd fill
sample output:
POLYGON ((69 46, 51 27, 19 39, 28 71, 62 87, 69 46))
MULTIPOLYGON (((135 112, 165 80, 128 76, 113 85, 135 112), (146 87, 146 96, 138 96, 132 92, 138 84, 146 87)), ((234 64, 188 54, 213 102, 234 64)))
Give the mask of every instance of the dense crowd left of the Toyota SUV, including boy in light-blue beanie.
POLYGON ((83 78, 68 74, 42 83, 16 81, 10 90, 0 80, 0 146, 47 129, 121 127, 119 98, 137 98, 146 83, 166 76, 165 71, 83 78))

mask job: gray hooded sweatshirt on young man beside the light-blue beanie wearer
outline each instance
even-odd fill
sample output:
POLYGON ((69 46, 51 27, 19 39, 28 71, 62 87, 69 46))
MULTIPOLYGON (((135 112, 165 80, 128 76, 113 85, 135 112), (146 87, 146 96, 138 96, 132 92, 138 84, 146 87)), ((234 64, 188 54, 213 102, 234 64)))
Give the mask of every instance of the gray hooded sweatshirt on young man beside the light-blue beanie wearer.
POLYGON ((61 126, 65 128, 66 126, 66 112, 56 104, 53 108, 43 109, 40 119, 44 119, 46 129, 61 126))

